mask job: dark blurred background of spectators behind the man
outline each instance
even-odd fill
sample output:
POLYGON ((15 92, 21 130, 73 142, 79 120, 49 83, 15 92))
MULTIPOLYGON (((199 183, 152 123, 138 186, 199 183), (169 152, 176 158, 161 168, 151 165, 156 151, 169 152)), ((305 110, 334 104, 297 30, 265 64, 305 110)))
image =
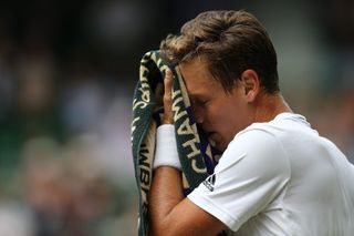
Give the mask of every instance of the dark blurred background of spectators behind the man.
POLYGON ((216 9, 263 22, 287 101, 354 162, 352 0, 3 0, 0 236, 136 235, 139 60, 216 9))

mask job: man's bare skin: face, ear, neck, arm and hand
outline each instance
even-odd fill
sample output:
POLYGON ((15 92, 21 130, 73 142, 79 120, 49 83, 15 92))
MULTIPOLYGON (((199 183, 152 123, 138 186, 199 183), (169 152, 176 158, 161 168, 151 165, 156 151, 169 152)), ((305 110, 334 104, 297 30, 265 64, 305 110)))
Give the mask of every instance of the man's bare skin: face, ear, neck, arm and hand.
MULTIPOLYGON (((291 112, 280 93, 263 92, 253 70, 243 71, 231 93, 226 93, 207 70, 202 58, 179 64, 179 69, 196 121, 220 150, 250 124, 291 112)), ((165 79, 164 107, 164 123, 173 124, 170 72, 165 79)), ((162 166, 155 170, 149 201, 152 235, 215 236, 226 228, 218 218, 184 197, 181 174, 176 168, 162 166)))

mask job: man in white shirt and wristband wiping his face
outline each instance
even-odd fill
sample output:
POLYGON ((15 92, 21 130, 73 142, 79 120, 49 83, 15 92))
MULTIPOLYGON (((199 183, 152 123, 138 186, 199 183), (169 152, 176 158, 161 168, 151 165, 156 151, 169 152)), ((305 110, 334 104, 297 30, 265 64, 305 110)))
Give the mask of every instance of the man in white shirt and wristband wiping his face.
POLYGON ((175 147, 165 142, 174 140, 168 72, 153 235, 354 234, 354 167, 284 102, 275 51, 252 14, 204 12, 180 35, 167 37, 162 51, 178 64, 196 121, 223 154, 215 174, 185 198, 175 147))

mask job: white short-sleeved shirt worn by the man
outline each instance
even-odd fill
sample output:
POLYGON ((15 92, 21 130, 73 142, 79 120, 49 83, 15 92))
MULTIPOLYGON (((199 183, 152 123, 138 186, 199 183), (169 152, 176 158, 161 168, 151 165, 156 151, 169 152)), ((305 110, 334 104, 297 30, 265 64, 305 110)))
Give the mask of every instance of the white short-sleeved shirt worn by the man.
POLYGON ((354 235, 354 167, 298 114, 239 132, 188 198, 238 236, 354 235))

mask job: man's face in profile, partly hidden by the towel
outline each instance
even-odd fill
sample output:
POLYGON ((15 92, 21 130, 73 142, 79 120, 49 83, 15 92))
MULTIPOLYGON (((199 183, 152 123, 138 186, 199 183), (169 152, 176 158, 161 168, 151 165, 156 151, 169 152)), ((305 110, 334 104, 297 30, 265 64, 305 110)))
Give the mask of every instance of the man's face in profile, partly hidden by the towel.
POLYGON ((227 94, 200 59, 179 64, 191 106, 202 129, 216 147, 223 151, 233 136, 250 124, 250 109, 244 90, 236 84, 227 94))

